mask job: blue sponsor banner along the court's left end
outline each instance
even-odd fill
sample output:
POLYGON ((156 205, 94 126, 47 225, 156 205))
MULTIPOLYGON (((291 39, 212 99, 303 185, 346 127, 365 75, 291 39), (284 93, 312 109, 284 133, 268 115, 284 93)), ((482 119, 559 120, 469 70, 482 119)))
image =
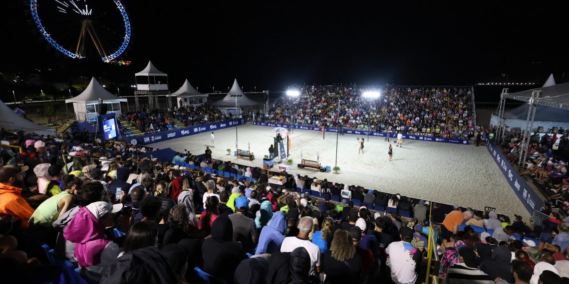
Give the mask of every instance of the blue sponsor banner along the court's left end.
POLYGON ((170 139, 176 139, 184 136, 194 135, 198 133, 216 131, 228 127, 234 127, 236 125, 245 124, 245 119, 232 119, 224 120, 222 122, 213 122, 208 124, 201 124, 199 126, 191 126, 184 128, 176 128, 168 131, 155 132, 146 135, 139 135, 129 137, 129 142, 135 145, 145 145, 156 143, 159 141, 166 141, 170 139))

